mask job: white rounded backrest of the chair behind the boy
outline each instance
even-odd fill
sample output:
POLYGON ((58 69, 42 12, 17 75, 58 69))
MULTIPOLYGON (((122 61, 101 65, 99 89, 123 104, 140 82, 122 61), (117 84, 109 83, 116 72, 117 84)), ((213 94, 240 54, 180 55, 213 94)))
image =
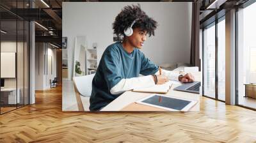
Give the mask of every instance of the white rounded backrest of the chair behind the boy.
POLYGON ((95 74, 84 75, 81 77, 73 77, 73 82, 76 84, 77 91, 82 96, 91 96, 92 80, 95 74))

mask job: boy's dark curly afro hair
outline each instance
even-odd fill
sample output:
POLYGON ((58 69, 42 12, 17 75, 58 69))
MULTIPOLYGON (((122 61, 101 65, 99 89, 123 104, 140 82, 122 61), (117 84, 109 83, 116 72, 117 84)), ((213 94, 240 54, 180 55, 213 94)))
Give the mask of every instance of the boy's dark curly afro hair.
POLYGON ((147 31, 149 36, 155 35, 154 31, 157 27, 157 22, 148 17, 145 11, 141 10, 140 4, 132 4, 132 6, 125 6, 122 9, 113 23, 114 34, 118 37, 125 36, 124 30, 127 29, 127 27, 130 27, 134 20, 136 20, 136 22, 132 26, 132 29, 138 27, 142 31, 147 31))

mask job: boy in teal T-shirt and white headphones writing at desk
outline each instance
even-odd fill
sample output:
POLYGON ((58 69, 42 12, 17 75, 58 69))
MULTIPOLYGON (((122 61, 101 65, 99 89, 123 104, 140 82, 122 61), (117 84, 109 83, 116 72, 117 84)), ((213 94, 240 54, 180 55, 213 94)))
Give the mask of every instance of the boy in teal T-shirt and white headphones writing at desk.
POLYGON ((113 23, 114 34, 124 36, 107 47, 92 81, 90 110, 97 111, 135 87, 164 84, 168 80, 193 82, 190 73, 179 75, 161 70, 141 52, 147 36, 154 35, 157 22, 138 6, 125 6, 113 23), (144 75, 139 77, 139 74, 144 75))

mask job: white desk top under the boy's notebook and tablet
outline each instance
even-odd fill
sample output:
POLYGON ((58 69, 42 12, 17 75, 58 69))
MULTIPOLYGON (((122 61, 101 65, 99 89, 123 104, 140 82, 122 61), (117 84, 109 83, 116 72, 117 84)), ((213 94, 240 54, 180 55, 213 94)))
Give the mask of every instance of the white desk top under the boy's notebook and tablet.
MULTIPOLYGON (((196 81, 200 81, 200 72, 193 72, 196 81)), ((197 103, 194 107, 190 109, 190 111, 199 111, 200 110, 200 94, 195 93, 188 93, 182 91, 174 91, 173 88, 179 85, 173 84, 170 91, 165 96, 173 96, 178 98, 184 98, 189 100, 196 100, 197 103)), ((152 93, 136 93, 132 91, 126 91, 125 93, 121 94, 118 98, 116 98, 113 102, 109 103, 106 107, 101 109, 100 111, 152 111, 152 107, 143 107, 139 104, 135 104, 134 102, 140 100, 141 98, 145 98, 152 93), (133 106, 133 107, 132 107, 133 106)), ((153 93, 154 94, 154 93, 153 93)))

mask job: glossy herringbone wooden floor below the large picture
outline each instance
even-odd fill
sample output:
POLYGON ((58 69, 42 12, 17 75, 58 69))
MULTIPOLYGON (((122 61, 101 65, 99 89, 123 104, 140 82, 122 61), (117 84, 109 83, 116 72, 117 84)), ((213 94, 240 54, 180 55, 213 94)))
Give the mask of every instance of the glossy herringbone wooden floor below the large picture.
POLYGON ((0 116, 0 142, 256 142, 256 112, 202 97, 200 112, 61 111, 61 88, 0 116))

